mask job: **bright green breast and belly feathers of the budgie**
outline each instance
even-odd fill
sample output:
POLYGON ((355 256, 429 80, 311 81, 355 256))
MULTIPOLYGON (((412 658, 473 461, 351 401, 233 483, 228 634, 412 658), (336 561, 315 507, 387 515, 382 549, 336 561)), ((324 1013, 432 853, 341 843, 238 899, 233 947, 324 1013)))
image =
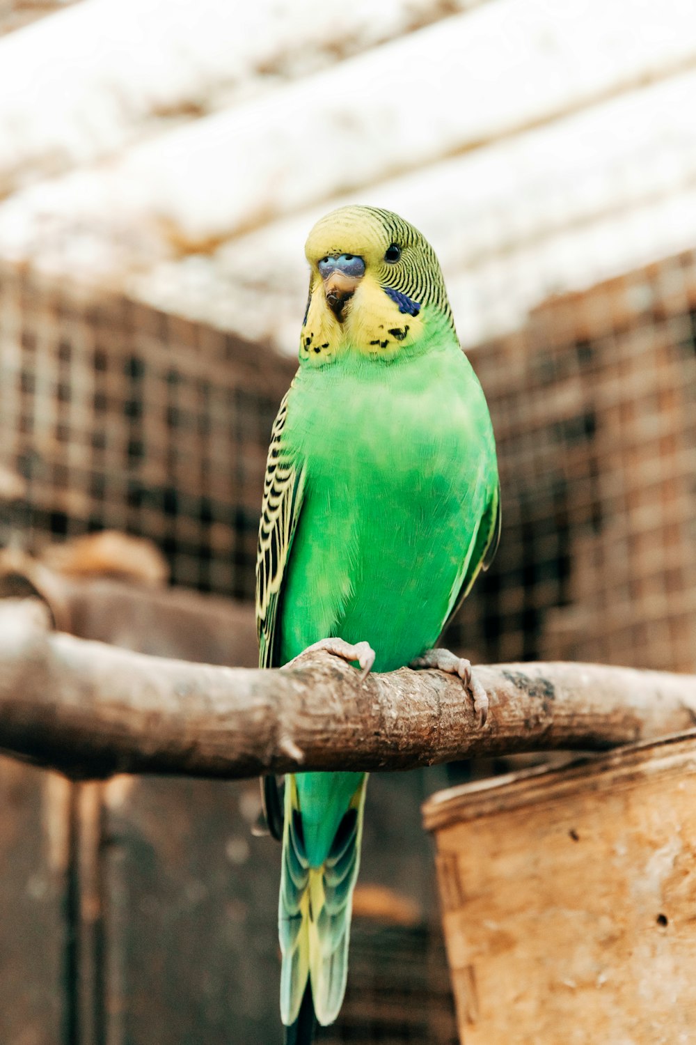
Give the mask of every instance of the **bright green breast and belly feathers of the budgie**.
POLYGON ((375 669, 435 644, 496 489, 483 393, 455 345, 389 365, 301 368, 284 442, 307 485, 286 567, 281 656, 367 640, 375 669))

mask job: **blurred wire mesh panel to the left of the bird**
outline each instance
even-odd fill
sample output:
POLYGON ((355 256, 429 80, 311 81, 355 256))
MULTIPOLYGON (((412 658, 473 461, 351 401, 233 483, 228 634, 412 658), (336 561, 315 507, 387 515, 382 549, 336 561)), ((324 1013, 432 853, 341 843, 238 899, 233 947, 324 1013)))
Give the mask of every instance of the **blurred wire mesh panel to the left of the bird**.
POLYGON ((270 427, 293 371, 211 327, 3 269, 3 542, 116 528, 155 541, 173 582, 250 598, 270 427))

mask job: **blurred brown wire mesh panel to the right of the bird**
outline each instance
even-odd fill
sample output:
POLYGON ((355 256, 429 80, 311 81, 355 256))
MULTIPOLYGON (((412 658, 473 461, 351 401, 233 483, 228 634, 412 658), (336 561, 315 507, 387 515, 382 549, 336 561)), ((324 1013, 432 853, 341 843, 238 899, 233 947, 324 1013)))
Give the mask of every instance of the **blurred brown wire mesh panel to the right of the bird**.
POLYGON ((470 353, 503 490, 448 643, 484 661, 696 666, 696 254, 536 309, 470 353))

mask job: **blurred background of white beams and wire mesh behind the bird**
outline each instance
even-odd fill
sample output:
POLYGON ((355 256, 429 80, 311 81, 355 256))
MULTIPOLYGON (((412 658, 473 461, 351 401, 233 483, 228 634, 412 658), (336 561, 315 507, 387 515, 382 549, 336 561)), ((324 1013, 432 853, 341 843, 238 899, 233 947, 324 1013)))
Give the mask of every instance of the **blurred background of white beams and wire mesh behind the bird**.
MULTIPOLYGON (((329 209, 433 243, 496 427, 473 660, 696 670, 693 0, 0 0, 0 595, 254 665, 270 425, 329 209)), ((376 776, 325 1042, 456 1041, 419 804, 376 776)), ((255 782, 0 761, 0 1042, 280 1040, 255 782)))

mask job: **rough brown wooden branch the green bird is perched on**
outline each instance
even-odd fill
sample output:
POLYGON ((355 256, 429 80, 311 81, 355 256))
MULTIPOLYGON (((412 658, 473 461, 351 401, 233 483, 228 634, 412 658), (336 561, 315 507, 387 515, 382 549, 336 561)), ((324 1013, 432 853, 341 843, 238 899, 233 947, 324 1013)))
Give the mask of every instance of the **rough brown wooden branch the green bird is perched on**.
POLYGON ((409 769, 470 756, 602 750, 696 724, 696 676, 584 664, 476 669, 480 728, 458 678, 368 676, 329 654, 292 668, 216 668, 131 653, 48 627, 33 600, 0 602, 0 748, 74 777, 243 777, 409 769))

